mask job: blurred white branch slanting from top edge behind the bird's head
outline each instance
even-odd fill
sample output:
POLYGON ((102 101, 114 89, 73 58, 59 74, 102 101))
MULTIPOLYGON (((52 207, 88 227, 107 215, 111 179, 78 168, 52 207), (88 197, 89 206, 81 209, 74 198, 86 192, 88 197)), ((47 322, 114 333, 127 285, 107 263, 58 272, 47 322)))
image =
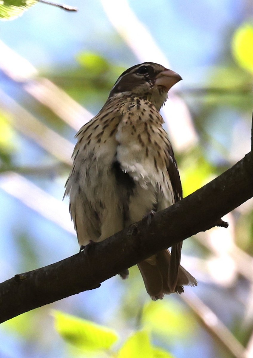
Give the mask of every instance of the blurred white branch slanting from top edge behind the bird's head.
MULTIPOLYGON (((131 48, 138 61, 153 61, 170 68, 166 55, 157 45, 149 29, 141 23, 132 11, 127 0, 102 0, 101 2, 108 19, 131 48), (122 14, 124 15, 122 16, 122 14)), ((174 70, 176 71, 176 68, 174 70)), ((181 75, 183 76, 183 74, 181 75)), ((180 88, 180 84, 176 87, 180 88)), ((177 151, 183 151, 198 141, 198 135, 188 107, 175 94, 173 88, 170 91, 169 97, 170 100, 162 109, 162 116, 169 128, 173 147, 177 151), (179 133, 180 135, 178 135, 179 133)))

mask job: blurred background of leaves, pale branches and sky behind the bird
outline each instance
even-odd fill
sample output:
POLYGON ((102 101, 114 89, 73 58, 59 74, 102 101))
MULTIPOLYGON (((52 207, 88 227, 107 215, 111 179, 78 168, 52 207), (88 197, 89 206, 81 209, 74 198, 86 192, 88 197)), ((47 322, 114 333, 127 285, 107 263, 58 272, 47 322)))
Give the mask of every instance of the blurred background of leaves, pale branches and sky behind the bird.
MULTIPOLYGON (((10 5, 0 4, 0 17, 10 5)), ((133 64, 159 62, 183 77, 163 115, 184 195, 250 148, 250 1, 69 5, 78 13, 38 3, 0 24, 1 281, 78 251, 61 201, 73 137, 133 64)), ((154 303, 133 267, 127 281, 113 277, 2 324, 0 357, 141 357, 140 342, 145 357, 252 357, 252 210, 249 200, 225 218, 229 229, 184 242, 198 287, 154 303)))

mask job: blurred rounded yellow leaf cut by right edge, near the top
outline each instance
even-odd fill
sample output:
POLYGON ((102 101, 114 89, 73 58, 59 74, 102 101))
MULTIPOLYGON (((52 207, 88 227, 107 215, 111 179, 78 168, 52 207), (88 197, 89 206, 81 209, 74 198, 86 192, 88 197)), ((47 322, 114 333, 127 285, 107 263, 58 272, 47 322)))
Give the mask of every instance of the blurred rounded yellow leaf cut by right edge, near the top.
POLYGON ((232 53, 242 68, 253 74, 253 26, 244 23, 234 33, 232 53))

